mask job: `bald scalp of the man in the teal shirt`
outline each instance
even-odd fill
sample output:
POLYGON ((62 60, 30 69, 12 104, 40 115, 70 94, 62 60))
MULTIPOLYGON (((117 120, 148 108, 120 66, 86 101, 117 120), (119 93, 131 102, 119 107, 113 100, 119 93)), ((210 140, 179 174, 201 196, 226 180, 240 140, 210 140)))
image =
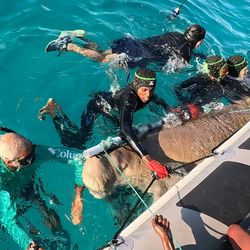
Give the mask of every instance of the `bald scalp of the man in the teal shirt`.
POLYGON ((21 150, 28 150, 31 147, 31 141, 17 133, 7 133, 0 136, 0 158, 2 159, 17 159, 21 150))

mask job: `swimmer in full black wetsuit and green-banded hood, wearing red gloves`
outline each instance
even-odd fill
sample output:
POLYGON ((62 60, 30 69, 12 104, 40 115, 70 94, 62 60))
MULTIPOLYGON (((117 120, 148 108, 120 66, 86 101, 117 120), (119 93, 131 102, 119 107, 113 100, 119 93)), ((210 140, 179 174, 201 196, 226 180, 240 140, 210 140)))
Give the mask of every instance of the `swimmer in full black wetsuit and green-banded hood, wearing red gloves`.
POLYGON ((47 104, 40 109, 39 118, 43 120, 46 114, 50 114, 62 144, 84 149, 85 142, 92 133, 96 117, 102 114, 120 128, 121 138, 132 146, 146 164, 149 164, 152 159, 137 138, 132 123, 134 113, 151 101, 163 106, 165 110, 169 109, 162 99, 153 96, 155 86, 155 72, 150 69, 139 69, 132 82, 116 92, 114 96, 111 92, 95 94, 95 98, 90 100, 82 114, 80 128, 69 120, 53 99, 49 99, 47 104), (112 112, 115 112, 116 115, 112 112))

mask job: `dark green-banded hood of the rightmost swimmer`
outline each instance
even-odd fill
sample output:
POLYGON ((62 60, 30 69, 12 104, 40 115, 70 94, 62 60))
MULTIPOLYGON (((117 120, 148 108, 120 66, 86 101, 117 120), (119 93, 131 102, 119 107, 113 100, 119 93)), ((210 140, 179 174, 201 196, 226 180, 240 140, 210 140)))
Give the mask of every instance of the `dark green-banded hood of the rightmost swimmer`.
POLYGON ((241 70, 247 67, 247 60, 240 55, 230 56, 227 59, 228 74, 233 77, 239 77, 241 70))

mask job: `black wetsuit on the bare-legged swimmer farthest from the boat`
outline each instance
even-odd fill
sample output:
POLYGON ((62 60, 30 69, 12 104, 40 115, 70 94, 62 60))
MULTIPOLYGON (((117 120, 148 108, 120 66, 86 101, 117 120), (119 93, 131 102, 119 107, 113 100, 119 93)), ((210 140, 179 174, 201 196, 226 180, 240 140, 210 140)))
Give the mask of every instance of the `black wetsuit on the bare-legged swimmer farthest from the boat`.
POLYGON ((189 62, 192 45, 179 32, 168 32, 146 39, 123 37, 111 44, 112 53, 126 53, 129 56, 128 67, 145 67, 150 62, 165 65, 170 56, 176 55, 189 62))

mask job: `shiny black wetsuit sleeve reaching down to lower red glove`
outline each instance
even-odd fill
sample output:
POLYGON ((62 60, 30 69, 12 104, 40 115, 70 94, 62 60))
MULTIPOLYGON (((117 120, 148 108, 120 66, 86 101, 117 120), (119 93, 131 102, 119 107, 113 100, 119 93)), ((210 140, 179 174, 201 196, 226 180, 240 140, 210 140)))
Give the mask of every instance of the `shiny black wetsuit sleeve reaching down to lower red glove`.
POLYGON ((133 127, 133 116, 137 106, 137 97, 131 95, 129 98, 123 100, 120 110, 120 126, 121 126, 121 137, 126 140, 132 148, 143 157, 148 153, 139 142, 133 127))

